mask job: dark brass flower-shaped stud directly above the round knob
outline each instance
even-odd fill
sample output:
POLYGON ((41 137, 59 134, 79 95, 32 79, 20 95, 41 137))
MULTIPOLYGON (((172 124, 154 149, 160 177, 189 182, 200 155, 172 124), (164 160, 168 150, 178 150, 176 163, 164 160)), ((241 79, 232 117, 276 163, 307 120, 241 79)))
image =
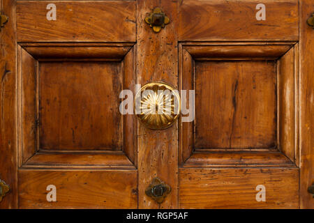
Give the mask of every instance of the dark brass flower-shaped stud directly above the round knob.
POLYGON ((163 13, 161 8, 154 8, 153 12, 145 17, 145 22, 153 28, 155 33, 159 33, 161 28, 164 28, 170 22, 170 19, 163 13))

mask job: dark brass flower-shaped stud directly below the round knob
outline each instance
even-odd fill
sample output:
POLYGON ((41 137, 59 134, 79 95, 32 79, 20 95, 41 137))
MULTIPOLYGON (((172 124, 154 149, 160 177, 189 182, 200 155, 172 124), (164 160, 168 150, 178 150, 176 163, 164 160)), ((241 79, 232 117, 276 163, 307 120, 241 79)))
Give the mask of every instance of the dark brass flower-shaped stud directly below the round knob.
POLYGON ((163 203, 165 197, 167 197, 167 194, 170 194, 170 192, 170 185, 163 183, 160 178, 154 178, 149 187, 145 190, 145 194, 151 197, 151 199, 154 199, 157 203, 163 203))

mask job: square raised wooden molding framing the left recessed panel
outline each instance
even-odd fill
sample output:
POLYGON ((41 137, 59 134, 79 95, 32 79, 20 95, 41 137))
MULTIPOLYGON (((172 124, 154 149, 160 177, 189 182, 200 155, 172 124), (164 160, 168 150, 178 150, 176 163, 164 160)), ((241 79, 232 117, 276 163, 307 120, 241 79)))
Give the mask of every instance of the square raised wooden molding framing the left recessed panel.
MULTIPOLYGON (((59 130, 51 130, 49 134, 46 134, 44 131, 50 130, 54 125, 50 123, 49 125, 43 125, 43 109, 46 109, 48 112, 50 110, 56 109, 58 103, 49 108, 50 99, 47 98, 42 100, 43 93, 46 93, 46 96, 53 97, 56 100, 57 95, 53 91, 43 92, 43 89, 40 88, 40 83, 38 80, 43 77, 40 75, 40 66, 50 63, 56 63, 56 66, 64 66, 66 64, 71 65, 67 67, 68 72, 72 72, 72 66, 88 65, 88 64, 104 64, 106 66, 114 65, 117 72, 119 72, 119 86, 110 84, 110 87, 116 87, 117 91, 114 90, 115 95, 119 97, 121 89, 130 89, 135 91, 135 50, 132 43, 24 43, 19 45, 18 50, 18 114, 19 122, 21 125, 18 129, 18 136, 20 139, 19 144, 19 166, 22 168, 45 168, 45 169, 89 169, 91 167, 95 169, 136 169, 136 154, 135 154, 135 117, 128 114, 122 116, 119 114, 119 101, 120 99, 114 99, 117 104, 118 111, 115 111, 114 114, 120 116, 121 121, 115 121, 110 125, 111 119, 105 121, 103 125, 106 125, 103 130, 109 131, 114 130, 114 136, 117 137, 117 141, 110 141, 107 147, 105 145, 107 133, 103 133, 104 137, 101 135, 96 136, 97 140, 87 141, 84 137, 87 137, 88 140, 91 140, 89 137, 90 134, 99 134, 99 128, 97 132, 93 132, 93 129, 90 129, 89 126, 86 127, 82 125, 78 132, 80 138, 79 141, 72 141, 73 132, 68 135, 63 132, 62 137, 63 141, 59 141, 58 132, 59 130), (45 104, 46 103, 46 104, 45 104), (118 126, 113 126, 118 125, 118 126), (110 127, 110 128, 108 128, 110 127), (83 132, 82 132, 83 131, 83 132), (84 131, 87 131, 84 133, 84 131), (53 136, 55 136, 54 139, 53 136), (48 140, 49 139, 49 140, 48 140), (64 141, 66 140, 66 141, 64 141), (111 143, 114 143, 111 145, 111 143), (90 144, 90 146, 89 146, 90 144), (57 146, 57 147, 56 147, 57 146)), ((54 68, 55 66, 51 67, 54 68)), ((48 69, 51 70, 51 69, 48 69)), ((74 67, 73 67, 74 69, 74 67)), ((62 73, 64 81, 68 73, 66 69, 59 69, 62 73)), ((81 69, 82 70, 82 69, 81 69)), ((92 71, 93 69, 91 69, 92 71)), ((101 72, 105 72, 102 68, 101 72)), ((86 70, 85 70, 86 71, 86 70)), ((100 70, 94 70, 94 72, 100 72, 100 70)), ((72 72, 73 73, 73 72, 72 72)), ((74 74, 74 73, 73 73, 74 74)), ((43 74, 42 74, 43 75, 43 74)), ((52 75, 52 74, 47 74, 52 75)), ((55 74, 54 74, 55 75, 55 74)), ((86 75, 86 72, 85 72, 86 75)), ((91 74, 92 75, 92 74, 91 74)), ((95 74, 94 76, 99 75, 95 74)), ((112 74, 115 75, 115 74, 112 74)), ((52 76, 53 77, 53 76, 52 76)), ((48 78, 48 77, 47 77, 48 78)), ((105 84, 105 82, 100 82, 99 79, 94 79, 96 77, 90 77, 89 81, 87 80, 84 83, 92 84, 96 82, 105 84)), ((74 78, 75 79, 75 78, 74 78)), ((108 78, 107 78, 108 79, 108 78)), ((54 82, 59 83, 56 78, 54 82)), ((59 78, 60 80, 60 78, 59 78)), ((69 82, 64 82, 62 88, 74 88, 77 86, 71 86, 69 82)), ((73 80, 73 79, 72 79, 73 80)), ((75 84, 75 83, 72 83, 75 84)), ((51 84, 50 84, 51 85, 51 84)), ((49 86, 50 86, 49 85, 49 86)), ((90 85, 89 85, 90 86, 90 85)), ((95 84, 93 86, 96 86, 95 84)), ((53 86, 51 85, 50 88, 53 86)), ((66 89, 59 89, 57 93, 66 92, 66 89)), ((105 90, 105 89, 103 89, 105 90)), ((82 92, 83 93, 83 92, 82 92)), ((93 97, 94 92, 91 89, 91 96, 93 97)), ((82 95, 85 97, 88 95, 82 95)), ((62 98, 69 98, 62 97, 62 98)), ((52 98, 53 99, 53 98, 52 98)), ((102 98, 98 97, 98 100, 103 100, 105 103, 108 100, 107 96, 104 95, 102 98)), ((73 104, 73 103, 72 103, 73 104)), ((71 103, 66 104, 67 106, 72 105, 71 103)), ((87 103, 84 103, 84 106, 87 106, 87 103)), ((64 108, 63 108, 64 109, 64 108)), ((91 111, 90 108, 88 111, 91 111)), ((100 107, 94 107, 94 109, 100 109, 100 107)), ((57 114, 59 110, 54 111, 54 114, 57 114)), ((79 110, 81 111, 81 110, 79 110)), ((64 112, 64 111, 59 111, 64 112)), ((51 113, 51 112, 50 112, 51 113)), ((85 114, 84 110, 81 111, 82 114, 76 114, 73 118, 90 118, 93 114, 85 114)), ((104 116, 105 114, 100 114, 104 116)), ((52 116, 52 115, 50 115, 52 116)), ((55 115, 54 115, 55 116, 55 115)), ((52 116, 52 117, 54 117, 52 116)), ((54 120, 56 121, 54 117, 54 120)), ((99 117, 100 118, 100 117, 99 117)), ((105 118, 105 116, 104 116, 105 118)), ((118 117, 119 118, 119 117, 118 117)), ((73 119, 75 121, 76 119, 73 119)), ((97 119, 97 118, 96 118, 97 119)), ((68 118, 70 120, 70 118, 68 118)), ((81 120, 81 119, 80 119, 81 120)), ((65 120, 63 120, 64 123, 65 120)), ((83 123, 84 124, 84 123, 83 123)), ((94 123, 94 124, 99 124, 94 123)), ((93 125, 93 123, 91 123, 93 125)), ((63 125, 55 125, 56 128, 63 128, 63 125)))

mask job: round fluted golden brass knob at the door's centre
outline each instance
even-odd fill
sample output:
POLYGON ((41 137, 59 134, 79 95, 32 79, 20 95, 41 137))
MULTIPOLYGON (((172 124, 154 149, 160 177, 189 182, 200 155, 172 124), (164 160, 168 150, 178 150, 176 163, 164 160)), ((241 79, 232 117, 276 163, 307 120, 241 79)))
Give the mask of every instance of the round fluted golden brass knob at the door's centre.
POLYGON ((145 84, 135 95, 134 110, 147 128, 163 130, 179 117, 179 92, 163 82, 145 84))

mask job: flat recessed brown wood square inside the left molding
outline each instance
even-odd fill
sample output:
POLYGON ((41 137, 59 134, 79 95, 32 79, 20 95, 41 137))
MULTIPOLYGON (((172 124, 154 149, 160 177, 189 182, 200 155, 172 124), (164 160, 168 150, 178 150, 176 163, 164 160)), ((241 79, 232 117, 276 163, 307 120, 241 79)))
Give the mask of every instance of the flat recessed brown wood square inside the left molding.
POLYGON ((120 91, 121 63, 40 63, 40 149, 121 149, 120 91))

